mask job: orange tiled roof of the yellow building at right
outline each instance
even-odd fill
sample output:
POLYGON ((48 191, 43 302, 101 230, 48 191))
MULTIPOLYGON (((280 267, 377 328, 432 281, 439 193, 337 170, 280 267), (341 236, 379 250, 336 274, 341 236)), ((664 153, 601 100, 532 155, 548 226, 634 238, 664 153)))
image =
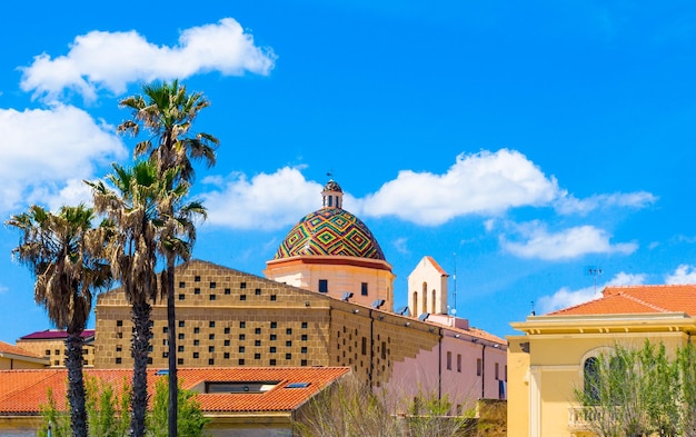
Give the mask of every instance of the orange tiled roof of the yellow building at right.
POLYGON ((603 297, 548 316, 686 312, 696 316, 696 285, 612 286, 603 297))

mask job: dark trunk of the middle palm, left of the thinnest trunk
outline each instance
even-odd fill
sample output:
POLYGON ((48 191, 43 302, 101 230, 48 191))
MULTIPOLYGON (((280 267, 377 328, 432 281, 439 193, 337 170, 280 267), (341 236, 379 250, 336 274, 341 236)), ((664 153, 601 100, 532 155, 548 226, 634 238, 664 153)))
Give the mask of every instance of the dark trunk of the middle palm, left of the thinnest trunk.
POLYGON ((130 416, 131 436, 145 436, 145 417, 148 409, 148 348, 150 347, 150 312, 147 301, 133 305, 133 397, 130 416))

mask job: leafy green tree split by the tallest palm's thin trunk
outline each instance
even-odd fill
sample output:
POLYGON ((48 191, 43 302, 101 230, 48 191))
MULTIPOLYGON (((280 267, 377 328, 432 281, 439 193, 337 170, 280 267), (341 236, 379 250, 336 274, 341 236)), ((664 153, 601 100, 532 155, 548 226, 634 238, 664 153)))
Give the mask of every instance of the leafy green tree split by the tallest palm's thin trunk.
MULTIPOLYGON (((178 393, 177 429, 178 437, 200 437, 203 428, 210 421, 203 416, 196 393, 179 387, 178 393)), ((169 390, 165 379, 155 383, 152 411, 148 416, 148 437, 167 437, 169 419, 169 390)))

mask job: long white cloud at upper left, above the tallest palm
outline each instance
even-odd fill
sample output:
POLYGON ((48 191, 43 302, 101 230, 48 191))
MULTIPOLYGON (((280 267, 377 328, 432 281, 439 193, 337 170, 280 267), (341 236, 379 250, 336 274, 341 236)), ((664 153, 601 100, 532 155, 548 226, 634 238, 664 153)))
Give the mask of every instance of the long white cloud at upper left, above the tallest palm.
POLYGON ((209 71, 268 75, 275 61, 272 49, 255 46, 253 37, 232 18, 186 29, 173 47, 149 42, 136 31, 91 31, 76 37, 66 56, 34 57, 31 66, 21 69, 21 88, 47 100, 69 91, 90 101, 102 89, 121 95, 129 82, 185 79, 209 71))

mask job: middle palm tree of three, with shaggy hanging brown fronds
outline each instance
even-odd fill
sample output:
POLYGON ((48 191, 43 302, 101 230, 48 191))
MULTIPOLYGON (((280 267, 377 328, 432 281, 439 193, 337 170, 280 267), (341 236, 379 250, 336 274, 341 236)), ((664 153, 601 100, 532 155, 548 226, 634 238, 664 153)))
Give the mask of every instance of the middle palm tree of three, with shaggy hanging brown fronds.
POLYGON ((205 215, 198 202, 183 203, 188 195, 186 182, 173 182, 178 169, 158 175, 149 161, 137 162, 126 169, 113 165, 115 172, 107 176, 113 188, 103 181, 88 182, 92 187, 95 207, 110 221, 112 232, 107 244, 107 259, 113 277, 120 280, 132 307, 133 383, 131 400, 132 435, 145 434, 147 410, 147 365, 150 346, 150 315, 158 296, 158 252, 167 250, 190 254, 190 242, 196 238, 192 218, 205 215), (168 188, 171 187, 171 188, 168 188), (177 216, 168 215, 176 210, 177 216))

